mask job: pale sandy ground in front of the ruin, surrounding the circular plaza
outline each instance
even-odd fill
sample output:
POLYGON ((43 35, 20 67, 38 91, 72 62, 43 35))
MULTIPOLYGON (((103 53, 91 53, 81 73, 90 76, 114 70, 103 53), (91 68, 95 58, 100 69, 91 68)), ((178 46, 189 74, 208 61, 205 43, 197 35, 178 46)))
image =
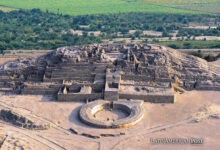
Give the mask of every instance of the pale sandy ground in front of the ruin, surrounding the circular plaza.
POLYGON ((56 102, 47 96, 1 95, 0 107, 19 111, 51 124, 45 131, 31 131, 0 122, 7 135, 3 149, 219 149, 220 92, 190 91, 177 94, 174 104, 145 103, 145 117, 127 129, 98 129, 81 123, 78 111, 83 102, 56 102), (118 137, 93 139, 73 134, 69 128, 93 135, 125 133, 118 137), (153 144, 150 138, 202 138, 203 144, 153 144))

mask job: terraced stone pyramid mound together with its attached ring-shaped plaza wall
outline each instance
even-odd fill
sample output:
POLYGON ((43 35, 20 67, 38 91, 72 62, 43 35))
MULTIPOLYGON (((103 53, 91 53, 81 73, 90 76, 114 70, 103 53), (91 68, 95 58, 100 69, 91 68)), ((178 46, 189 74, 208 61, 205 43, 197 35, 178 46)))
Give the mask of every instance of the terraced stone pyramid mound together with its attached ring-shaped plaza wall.
POLYGON ((80 119, 101 128, 134 125, 143 118, 142 102, 174 103, 178 90, 219 91, 220 70, 200 58, 147 44, 63 47, 0 65, 0 92, 85 101, 80 119), (98 111, 114 108, 128 115, 94 118, 98 111))

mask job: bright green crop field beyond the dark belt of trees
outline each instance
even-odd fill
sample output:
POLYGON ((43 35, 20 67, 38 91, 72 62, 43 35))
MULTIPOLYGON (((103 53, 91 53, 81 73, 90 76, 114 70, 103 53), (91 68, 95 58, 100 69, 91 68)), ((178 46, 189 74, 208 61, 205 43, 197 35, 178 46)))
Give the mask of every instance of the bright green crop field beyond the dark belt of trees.
POLYGON ((119 12, 219 13, 219 0, 0 0, 1 6, 69 15, 119 12))

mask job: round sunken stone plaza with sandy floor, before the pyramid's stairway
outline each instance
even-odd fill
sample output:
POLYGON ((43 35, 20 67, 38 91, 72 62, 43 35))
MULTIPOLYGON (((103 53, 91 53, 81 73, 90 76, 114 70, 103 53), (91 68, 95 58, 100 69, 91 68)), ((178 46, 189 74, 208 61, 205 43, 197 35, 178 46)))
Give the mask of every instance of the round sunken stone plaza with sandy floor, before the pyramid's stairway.
POLYGON ((79 116, 83 122, 99 128, 129 127, 144 117, 142 104, 143 101, 96 100, 83 105, 79 116))

